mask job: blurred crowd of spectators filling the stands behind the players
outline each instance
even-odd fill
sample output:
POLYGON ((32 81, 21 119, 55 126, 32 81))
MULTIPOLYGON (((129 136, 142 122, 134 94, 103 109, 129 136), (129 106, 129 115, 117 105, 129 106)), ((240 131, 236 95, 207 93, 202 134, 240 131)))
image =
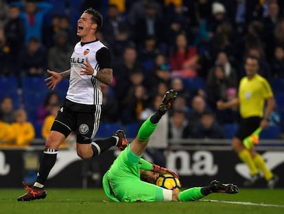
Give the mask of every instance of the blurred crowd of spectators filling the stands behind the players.
POLYGON ((216 103, 237 96, 244 57, 252 55, 272 85, 271 125, 281 138, 284 2, 277 0, 0 0, 0 127, 27 115, 35 136, 44 138, 45 120, 67 87, 48 92, 43 79, 47 69, 69 69, 77 20, 88 7, 104 16, 97 38, 113 58, 113 84, 102 85, 102 123, 139 125, 155 97, 173 88, 169 138, 226 138, 224 127, 239 122, 238 109, 219 110, 216 103))

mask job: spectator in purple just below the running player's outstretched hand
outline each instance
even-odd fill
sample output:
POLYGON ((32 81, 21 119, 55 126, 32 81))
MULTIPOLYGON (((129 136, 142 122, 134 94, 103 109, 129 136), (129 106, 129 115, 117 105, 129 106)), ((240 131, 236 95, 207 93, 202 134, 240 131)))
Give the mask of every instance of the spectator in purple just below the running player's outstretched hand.
POLYGON ((51 107, 60 104, 60 96, 56 92, 50 92, 45 97, 43 104, 40 105, 36 111, 38 124, 43 124, 47 116, 51 114, 51 107))

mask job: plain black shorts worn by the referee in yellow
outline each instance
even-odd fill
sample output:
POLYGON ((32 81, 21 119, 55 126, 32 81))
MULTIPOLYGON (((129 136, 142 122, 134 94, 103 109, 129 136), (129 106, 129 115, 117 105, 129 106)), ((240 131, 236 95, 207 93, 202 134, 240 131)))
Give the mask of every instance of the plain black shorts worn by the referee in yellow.
POLYGON ((250 136, 260 125, 262 118, 260 117, 250 117, 241 119, 241 124, 235 135, 239 140, 244 140, 244 138, 250 136))

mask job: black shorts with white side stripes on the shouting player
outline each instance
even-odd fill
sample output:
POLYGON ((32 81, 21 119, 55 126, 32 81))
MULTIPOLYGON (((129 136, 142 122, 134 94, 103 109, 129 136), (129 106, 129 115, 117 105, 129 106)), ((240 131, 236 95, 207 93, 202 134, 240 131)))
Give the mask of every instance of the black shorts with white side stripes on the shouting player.
POLYGON ((65 137, 69 136, 71 131, 75 131, 78 143, 91 143, 99 128, 101 112, 101 105, 82 105, 65 100, 51 130, 58 131, 65 137))

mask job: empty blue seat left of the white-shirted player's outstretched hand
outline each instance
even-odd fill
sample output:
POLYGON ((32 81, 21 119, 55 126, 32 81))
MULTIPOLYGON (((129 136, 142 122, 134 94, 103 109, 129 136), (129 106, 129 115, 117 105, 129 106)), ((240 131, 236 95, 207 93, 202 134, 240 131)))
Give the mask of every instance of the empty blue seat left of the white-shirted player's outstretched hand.
POLYGON ((22 80, 23 92, 48 92, 45 77, 25 76, 22 80))

